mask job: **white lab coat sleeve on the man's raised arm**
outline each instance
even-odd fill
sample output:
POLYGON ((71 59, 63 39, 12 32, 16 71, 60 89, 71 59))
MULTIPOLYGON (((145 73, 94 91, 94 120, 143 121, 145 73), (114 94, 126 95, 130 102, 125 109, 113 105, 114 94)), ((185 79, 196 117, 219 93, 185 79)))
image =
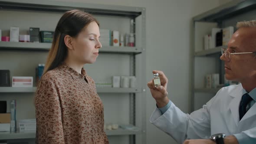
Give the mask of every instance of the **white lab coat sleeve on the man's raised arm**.
POLYGON ((215 97, 208 101, 206 105, 203 105, 203 108, 192 112, 190 115, 182 112, 174 103, 163 115, 156 108, 150 117, 150 122, 171 135, 179 144, 182 144, 186 139, 209 138, 209 109, 215 97))

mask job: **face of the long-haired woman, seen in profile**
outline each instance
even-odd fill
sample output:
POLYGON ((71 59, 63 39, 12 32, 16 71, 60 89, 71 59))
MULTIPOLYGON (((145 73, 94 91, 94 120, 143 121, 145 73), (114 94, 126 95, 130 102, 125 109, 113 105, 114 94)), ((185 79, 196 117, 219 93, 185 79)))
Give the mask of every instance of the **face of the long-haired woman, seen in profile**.
POLYGON ((98 49, 102 47, 99 37, 98 24, 95 21, 89 23, 72 39, 72 57, 79 63, 94 63, 98 57, 98 49))

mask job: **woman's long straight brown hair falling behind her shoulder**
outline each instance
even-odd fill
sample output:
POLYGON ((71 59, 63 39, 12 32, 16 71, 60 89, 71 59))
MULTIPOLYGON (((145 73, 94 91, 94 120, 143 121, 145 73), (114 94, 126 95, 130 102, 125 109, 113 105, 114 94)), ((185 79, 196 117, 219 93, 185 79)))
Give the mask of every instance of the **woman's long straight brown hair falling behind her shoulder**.
POLYGON ((49 70, 55 69, 66 59, 68 49, 64 37, 66 35, 76 37, 85 26, 93 21, 99 25, 95 17, 81 10, 70 10, 63 14, 54 32, 53 44, 46 60, 43 75, 49 70))

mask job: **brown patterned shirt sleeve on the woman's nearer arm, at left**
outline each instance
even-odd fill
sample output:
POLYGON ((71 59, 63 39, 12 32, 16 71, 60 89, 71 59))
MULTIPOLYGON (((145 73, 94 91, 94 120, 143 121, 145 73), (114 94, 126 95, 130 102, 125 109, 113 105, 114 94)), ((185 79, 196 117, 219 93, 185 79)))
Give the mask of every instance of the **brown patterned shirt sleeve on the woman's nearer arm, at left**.
POLYGON ((42 79, 36 91, 35 106, 36 143, 65 144, 59 95, 53 81, 42 79))

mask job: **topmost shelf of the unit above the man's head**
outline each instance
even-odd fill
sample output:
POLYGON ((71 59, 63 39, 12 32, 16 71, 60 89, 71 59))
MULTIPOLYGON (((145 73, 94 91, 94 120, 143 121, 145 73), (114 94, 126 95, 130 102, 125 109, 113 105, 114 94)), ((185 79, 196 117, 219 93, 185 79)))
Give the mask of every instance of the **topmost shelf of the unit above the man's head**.
POLYGON ((255 8, 256 0, 233 0, 213 10, 195 16, 193 19, 194 21, 207 22, 221 21, 238 14, 246 13, 250 10, 255 10, 255 8))

